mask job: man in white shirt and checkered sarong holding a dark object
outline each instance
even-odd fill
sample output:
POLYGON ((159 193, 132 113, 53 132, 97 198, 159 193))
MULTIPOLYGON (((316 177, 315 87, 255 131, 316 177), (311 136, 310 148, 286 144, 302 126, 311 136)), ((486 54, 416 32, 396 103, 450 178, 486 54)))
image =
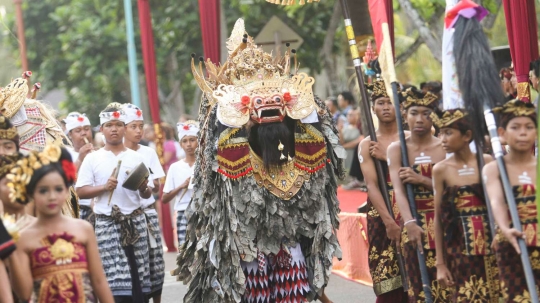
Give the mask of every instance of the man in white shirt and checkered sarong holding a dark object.
POLYGON ((105 147, 86 156, 75 188, 82 199, 95 198, 99 253, 115 302, 142 303, 151 285, 148 232, 141 206, 152 194, 152 183, 146 180, 137 191, 120 185, 143 157, 123 144, 126 128, 121 104, 109 104, 99 118, 105 147))

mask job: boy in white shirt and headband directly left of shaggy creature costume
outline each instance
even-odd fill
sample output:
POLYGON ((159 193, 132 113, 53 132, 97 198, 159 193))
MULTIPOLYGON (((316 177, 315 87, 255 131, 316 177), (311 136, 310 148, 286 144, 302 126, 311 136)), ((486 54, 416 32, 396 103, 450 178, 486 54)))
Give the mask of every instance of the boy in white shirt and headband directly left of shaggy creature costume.
POLYGON ((186 239, 187 219, 184 215, 186 208, 193 195, 193 169, 195 168, 195 150, 197 149, 197 133, 199 126, 196 121, 190 120, 176 125, 180 146, 186 153, 186 157, 173 163, 169 168, 165 186, 163 188, 163 203, 175 200, 174 210, 176 215, 176 233, 178 236, 178 246, 182 245, 186 239))

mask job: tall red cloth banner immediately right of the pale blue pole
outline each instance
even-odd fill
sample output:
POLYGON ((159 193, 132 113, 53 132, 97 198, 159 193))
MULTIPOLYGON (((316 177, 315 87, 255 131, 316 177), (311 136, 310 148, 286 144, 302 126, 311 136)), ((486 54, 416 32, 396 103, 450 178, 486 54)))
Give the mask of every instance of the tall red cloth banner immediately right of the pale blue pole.
POLYGON ((141 44, 146 75, 146 90, 150 115, 154 123, 160 123, 159 98, 156 72, 156 55, 154 52, 154 34, 152 31, 152 15, 148 0, 138 0, 139 22, 141 26, 141 44))

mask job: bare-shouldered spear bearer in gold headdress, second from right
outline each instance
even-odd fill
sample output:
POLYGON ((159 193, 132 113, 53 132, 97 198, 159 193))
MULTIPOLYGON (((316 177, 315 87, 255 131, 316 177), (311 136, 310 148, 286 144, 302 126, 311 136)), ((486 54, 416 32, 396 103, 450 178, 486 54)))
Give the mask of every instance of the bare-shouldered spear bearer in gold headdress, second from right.
MULTIPOLYGON (((464 109, 431 114, 442 147, 452 156, 433 167, 437 280, 453 288, 452 302, 499 302, 492 235, 473 140, 464 109)), ((484 155, 485 163, 492 161, 484 155)))

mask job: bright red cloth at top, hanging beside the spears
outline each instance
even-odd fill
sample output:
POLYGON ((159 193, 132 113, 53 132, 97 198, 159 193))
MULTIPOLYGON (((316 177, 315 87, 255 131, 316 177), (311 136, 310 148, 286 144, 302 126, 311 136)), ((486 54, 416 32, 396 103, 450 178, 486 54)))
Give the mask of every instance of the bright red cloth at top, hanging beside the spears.
POLYGON ((392 0, 368 0, 369 15, 371 17, 371 26, 373 35, 377 44, 377 52, 381 53, 383 41, 382 24, 388 23, 390 38, 392 44, 392 53, 394 53, 394 6, 392 0))

